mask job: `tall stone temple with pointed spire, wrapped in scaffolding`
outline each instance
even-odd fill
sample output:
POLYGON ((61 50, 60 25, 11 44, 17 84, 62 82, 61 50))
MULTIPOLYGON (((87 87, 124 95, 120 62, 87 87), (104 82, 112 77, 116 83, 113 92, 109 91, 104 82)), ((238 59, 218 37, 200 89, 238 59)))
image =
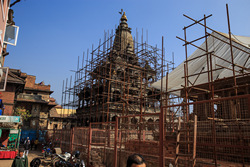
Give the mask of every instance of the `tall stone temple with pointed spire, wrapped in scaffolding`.
MULTIPOLYGON (((115 34, 105 34, 104 38, 87 54, 86 65, 78 68, 71 92, 65 92, 66 97, 73 96, 73 102, 64 105, 77 108, 78 126, 115 121, 117 116, 159 112, 160 91, 150 85, 161 79, 162 51, 133 39, 125 12, 115 34)), ((148 120, 156 121, 153 117, 148 120)))

